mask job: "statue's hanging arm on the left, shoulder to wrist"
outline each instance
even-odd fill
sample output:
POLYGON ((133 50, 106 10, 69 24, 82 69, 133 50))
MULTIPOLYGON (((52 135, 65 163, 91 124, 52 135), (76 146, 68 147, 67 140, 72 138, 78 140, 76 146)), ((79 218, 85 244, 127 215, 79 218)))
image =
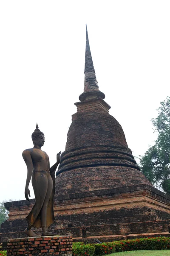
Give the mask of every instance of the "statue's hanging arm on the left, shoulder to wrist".
POLYGON ((28 151, 27 149, 23 151, 23 159, 27 166, 26 188, 28 188, 31 177, 32 177, 33 163, 32 163, 30 151, 28 151))

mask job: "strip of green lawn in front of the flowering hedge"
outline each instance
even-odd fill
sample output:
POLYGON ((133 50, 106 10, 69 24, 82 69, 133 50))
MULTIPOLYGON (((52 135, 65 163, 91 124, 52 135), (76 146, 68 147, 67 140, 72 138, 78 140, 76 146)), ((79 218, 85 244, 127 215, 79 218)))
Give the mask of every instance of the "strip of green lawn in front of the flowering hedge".
POLYGON ((137 250, 121 253, 112 253, 105 256, 170 256, 170 250, 137 250))

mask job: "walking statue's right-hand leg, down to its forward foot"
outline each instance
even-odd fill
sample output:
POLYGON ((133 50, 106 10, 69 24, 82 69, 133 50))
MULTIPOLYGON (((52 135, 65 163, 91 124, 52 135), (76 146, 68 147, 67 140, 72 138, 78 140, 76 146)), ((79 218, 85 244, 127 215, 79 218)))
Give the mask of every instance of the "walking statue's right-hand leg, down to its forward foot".
POLYGON ((53 236, 54 234, 51 232, 47 231, 46 228, 46 221, 47 221, 47 207, 48 207, 48 201, 50 199, 51 196, 51 192, 53 189, 53 180, 51 178, 51 175, 48 173, 47 174, 47 178, 48 178, 48 188, 47 188, 47 193, 45 196, 45 200, 41 209, 41 225, 42 225, 42 236, 53 236))

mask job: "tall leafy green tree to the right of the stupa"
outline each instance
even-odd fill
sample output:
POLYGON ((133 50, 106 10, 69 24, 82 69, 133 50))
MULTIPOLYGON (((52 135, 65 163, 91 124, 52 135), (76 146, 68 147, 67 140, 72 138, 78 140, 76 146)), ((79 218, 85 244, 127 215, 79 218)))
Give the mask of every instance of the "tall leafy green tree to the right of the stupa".
POLYGON ((151 120, 157 140, 139 159, 141 171, 150 182, 170 195, 170 97, 160 104, 158 116, 151 120))

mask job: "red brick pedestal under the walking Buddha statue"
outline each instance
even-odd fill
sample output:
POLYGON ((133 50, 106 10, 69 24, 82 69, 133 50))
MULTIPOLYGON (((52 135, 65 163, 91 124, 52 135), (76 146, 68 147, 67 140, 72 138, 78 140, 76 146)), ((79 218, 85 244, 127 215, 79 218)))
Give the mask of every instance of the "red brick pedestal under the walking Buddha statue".
POLYGON ((7 256, 72 256, 72 241, 72 236, 39 236, 9 239, 7 242, 7 256))

